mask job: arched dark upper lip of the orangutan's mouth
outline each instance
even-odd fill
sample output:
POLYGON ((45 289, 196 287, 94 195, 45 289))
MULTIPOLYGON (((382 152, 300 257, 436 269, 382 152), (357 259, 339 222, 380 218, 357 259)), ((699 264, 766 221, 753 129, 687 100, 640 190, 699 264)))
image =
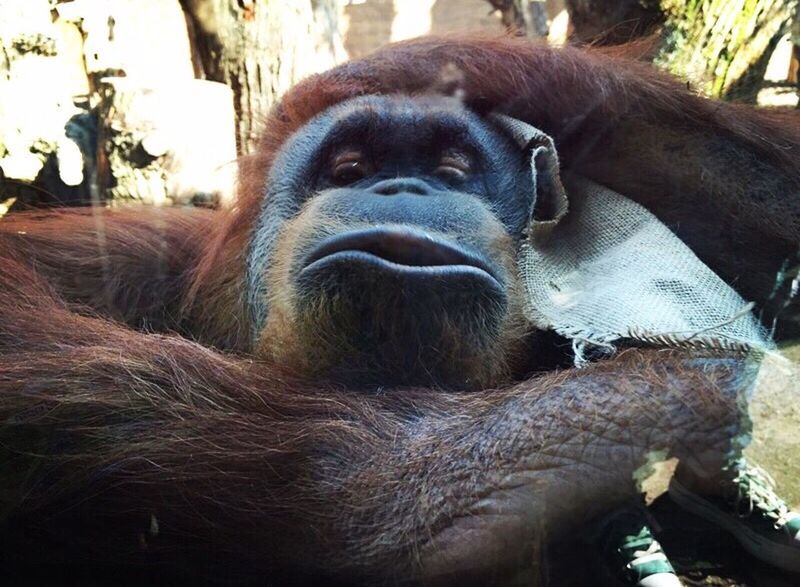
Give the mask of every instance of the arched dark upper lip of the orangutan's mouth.
POLYGON ((308 269, 315 262, 337 253, 366 253, 392 265, 407 268, 442 269, 454 266, 479 269, 495 281, 495 272, 478 255, 414 228, 376 227, 354 230, 325 239, 303 262, 308 269))

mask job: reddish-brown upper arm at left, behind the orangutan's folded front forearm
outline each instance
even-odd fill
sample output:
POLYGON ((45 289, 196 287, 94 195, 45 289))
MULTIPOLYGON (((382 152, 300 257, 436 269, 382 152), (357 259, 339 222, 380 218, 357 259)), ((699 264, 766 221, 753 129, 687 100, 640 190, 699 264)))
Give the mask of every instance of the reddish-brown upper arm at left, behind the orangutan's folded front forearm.
POLYGON ((177 315, 216 214, 187 208, 83 208, 0 221, 0 250, 31 267, 68 303, 135 327, 177 315))

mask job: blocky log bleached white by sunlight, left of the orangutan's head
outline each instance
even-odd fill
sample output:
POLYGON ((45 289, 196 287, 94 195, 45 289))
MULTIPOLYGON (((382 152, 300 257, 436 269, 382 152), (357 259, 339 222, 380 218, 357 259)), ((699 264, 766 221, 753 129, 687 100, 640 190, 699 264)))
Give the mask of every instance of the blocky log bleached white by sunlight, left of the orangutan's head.
POLYGON ((98 185, 112 205, 231 202, 236 171, 233 93, 205 80, 147 85, 103 78, 98 185))

